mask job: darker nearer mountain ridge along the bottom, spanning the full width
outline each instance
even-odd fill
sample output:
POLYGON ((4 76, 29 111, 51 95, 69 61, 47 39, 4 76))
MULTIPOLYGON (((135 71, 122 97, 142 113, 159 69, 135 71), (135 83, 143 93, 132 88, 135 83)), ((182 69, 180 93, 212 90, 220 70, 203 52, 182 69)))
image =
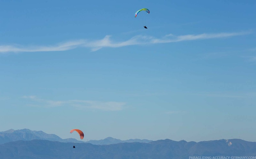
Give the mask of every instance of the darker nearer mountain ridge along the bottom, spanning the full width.
POLYGON ((202 142, 169 139, 150 143, 62 143, 48 140, 16 141, 0 144, 0 158, 35 159, 189 159, 190 156, 256 156, 256 142, 240 139, 202 142), (73 144, 76 148, 73 148, 73 144))

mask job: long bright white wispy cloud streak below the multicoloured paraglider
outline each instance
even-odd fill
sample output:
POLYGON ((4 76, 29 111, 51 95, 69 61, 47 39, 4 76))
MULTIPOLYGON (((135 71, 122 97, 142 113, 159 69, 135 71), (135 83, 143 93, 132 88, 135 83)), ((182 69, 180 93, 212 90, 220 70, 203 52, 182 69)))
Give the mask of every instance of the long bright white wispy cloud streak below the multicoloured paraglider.
POLYGON ((91 51, 97 51, 101 48, 119 48, 131 45, 146 45, 158 43, 172 43, 188 40, 212 39, 223 37, 234 37, 250 34, 250 32, 234 32, 234 33, 213 33, 213 34, 198 34, 198 35, 181 35, 175 36, 173 34, 166 35, 161 38, 152 36, 134 36, 126 41, 115 41, 111 36, 107 35, 100 40, 73 40, 48 46, 22 46, 22 45, 0 45, 0 53, 8 52, 41 52, 41 51, 66 51, 78 47, 90 48, 91 51))

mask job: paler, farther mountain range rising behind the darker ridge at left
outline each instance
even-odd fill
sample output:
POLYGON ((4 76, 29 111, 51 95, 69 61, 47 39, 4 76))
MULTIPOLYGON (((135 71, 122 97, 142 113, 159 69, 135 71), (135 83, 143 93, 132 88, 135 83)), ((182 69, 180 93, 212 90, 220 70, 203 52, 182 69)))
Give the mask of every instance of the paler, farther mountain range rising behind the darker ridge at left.
POLYGON ((129 140, 119 140, 115 139, 112 137, 107 137, 102 140, 90 140, 87 142, 84 141, 79 141, 73 138, 68 138, 68 139, 62 139, 59 136, 55 134, 48 134, 44 133, 43 131, 32 131, 29 129, 21 129, 21 130, 7 130, 4 132, 0 132, 0 144, 3 143, 8 143, 12 141, 19 141, 19 140, 24 140, 24 141, 30 141, 30 140, 49 140, 49 141, 59 141, 63 143, 92 143, 95 145, 105 145, 105 144, 115 144, 115 143, 132 143, 132 142, 140 142, 140 143, 149 143, 151 142, 150 140, 140 140, 140 139, 129 139, 129 140))

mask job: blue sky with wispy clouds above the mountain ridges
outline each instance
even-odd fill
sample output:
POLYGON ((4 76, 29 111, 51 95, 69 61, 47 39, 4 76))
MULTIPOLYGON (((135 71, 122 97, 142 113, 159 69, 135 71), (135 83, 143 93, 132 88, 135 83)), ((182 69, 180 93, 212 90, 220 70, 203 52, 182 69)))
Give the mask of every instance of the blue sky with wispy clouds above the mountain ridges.
POLYGON ((0 131, 256 141, 255 7, 2 1, 0 131))

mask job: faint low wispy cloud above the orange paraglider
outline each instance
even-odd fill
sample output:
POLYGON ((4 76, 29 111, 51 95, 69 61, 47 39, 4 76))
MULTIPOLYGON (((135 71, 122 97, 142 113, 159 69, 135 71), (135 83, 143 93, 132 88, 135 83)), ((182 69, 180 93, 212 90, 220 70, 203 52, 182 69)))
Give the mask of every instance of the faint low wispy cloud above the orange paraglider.
POLYGON ((125 102, 116 101, 86 101, 86 100, 67 100, 67 101, 53 101, 39 99, 36 96, 23 96, 24 99, 29 99, 34 103, 27 104, 35 107, 57 107, 57 106, 72 106, 80 110, 91 109, 101 111, 121 111, 125 106, 125 102))

